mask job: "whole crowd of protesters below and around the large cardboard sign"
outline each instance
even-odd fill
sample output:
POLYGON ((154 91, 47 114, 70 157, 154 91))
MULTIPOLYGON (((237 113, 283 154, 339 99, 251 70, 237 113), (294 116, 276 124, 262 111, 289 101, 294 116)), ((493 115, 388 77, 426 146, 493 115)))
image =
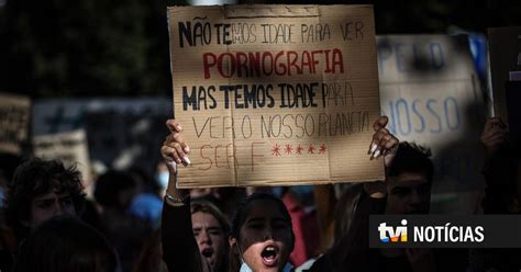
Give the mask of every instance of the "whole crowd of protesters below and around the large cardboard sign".
MULTIPOLYGON (((181 190, 190 161, 181 124, 169 129, 155 178, 137 168, 97 177, 58 160, 2 155, 0 271, 520 271, 517 249, 369 248, 370 214, 429 214, 434 165, 426 147, 374 123, 367 158, 386 179, 289 188, 181 190)), ((521 145, 485 122, 485 214, 521 211, 521 145)))

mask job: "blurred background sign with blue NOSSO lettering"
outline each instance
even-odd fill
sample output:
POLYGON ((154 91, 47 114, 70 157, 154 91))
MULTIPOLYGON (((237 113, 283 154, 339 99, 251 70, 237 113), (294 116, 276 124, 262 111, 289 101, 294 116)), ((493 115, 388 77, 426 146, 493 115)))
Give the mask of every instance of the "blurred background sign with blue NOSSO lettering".
POLYGON ((377 41, 381 109, 389 116, 389 131, 400 140, 431 148, 433 192, 481 189, 476 170, 483 165, 484 94, 467 37, 389 35, 377 41))

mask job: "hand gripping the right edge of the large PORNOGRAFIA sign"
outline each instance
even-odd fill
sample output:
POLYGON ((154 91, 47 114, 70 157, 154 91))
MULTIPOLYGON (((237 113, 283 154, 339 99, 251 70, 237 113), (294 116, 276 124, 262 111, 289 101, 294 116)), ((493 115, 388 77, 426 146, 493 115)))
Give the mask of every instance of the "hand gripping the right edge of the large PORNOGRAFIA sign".
POLYGON ((384 156, 386 167, 390 165, 399 145, 398 138, 386 128, 387 122, 389 122, 387 116, 380 116, 375 121, 373 125, 375 134, 373 134, 373 140, 367 152, 370 154, 370 159, 384 156))

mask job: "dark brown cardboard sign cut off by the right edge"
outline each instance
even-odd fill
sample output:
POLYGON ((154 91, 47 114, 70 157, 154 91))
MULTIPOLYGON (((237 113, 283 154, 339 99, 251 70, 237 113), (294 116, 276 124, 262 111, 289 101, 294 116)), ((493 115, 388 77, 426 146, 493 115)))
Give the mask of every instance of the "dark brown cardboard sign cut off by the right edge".
POLYGON ((521 70, 521 26, 488 29, 494 114, 508 124, 505 83, 509 72, 521 70))

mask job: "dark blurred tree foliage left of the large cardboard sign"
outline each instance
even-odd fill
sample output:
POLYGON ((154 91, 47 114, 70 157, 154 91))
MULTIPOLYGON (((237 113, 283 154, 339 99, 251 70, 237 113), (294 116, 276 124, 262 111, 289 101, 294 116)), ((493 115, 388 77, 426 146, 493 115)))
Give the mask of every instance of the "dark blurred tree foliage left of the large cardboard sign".
POLYGON ((1 89, 133 95, 170 89, 166 0, 10 0, 1 89))

